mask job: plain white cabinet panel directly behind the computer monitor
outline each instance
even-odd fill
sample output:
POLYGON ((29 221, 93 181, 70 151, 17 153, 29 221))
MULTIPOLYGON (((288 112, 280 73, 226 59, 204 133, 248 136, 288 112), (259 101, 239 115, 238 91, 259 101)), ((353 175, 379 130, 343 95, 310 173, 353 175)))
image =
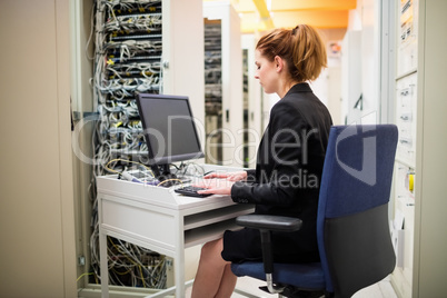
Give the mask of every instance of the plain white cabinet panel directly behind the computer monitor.
POLYGON ((163 93, 188 96, 199 129, 205 119, 201 11, 200 0, 162 0, 163 93))

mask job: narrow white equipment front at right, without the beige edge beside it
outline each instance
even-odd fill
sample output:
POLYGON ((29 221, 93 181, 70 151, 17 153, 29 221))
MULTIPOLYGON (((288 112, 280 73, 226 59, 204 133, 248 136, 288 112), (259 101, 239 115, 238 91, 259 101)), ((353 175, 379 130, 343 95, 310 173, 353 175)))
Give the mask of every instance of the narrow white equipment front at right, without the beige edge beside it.
POLYGON ((411 296, 415 234, 415 177, 417 145, 417 3, 396 3, 395 123, 399 139, 396 150, 394 218, 403 219, 394 227, 397 266, 393 275, 396 291, 411 296), (397 238, 397 236, 399 236, 397 238))

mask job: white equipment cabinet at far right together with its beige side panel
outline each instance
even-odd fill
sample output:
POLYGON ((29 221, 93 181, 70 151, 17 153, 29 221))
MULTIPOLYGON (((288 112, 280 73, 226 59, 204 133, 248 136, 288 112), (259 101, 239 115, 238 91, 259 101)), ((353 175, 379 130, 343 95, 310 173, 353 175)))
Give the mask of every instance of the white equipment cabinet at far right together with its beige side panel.
POLYGON ((391 282, 399 297, 445 297, 447 40, 439 32, 447 30, 447 2, 406 0, 396 6, 395 212, 405 217, 405 239, 391 282))

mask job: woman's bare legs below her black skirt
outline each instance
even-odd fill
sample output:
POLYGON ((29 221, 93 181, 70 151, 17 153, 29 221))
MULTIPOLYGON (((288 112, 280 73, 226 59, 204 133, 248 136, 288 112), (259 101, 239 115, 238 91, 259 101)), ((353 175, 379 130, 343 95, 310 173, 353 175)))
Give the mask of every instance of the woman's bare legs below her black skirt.
POLYGON ((220 255, 222 248, 222 239, 210 241, 202 247, 191 298, 231 296, 236 276, 231 272, 230 262, 224 260, 220 255))

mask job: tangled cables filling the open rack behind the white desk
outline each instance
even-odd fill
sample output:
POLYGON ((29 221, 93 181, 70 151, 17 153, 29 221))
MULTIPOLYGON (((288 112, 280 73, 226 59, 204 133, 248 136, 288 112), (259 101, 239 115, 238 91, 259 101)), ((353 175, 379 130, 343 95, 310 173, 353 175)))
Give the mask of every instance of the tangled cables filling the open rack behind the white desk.
MULTIPOLYGON (((99 119, 92 136, 95 165, 89 186, 90 265, 91 282, 99 282, 96 177, 130 169, 148 172, 140 165, 147 159, 147 146, 135 99, 139 92, 158 93, 162 86, 161 1, 97 0, 91 22, 95 28, 91 85, 99 119)), ((165 256, 155 251, 109 237, 108 265, 110 285, 166 288, 165 256)))

